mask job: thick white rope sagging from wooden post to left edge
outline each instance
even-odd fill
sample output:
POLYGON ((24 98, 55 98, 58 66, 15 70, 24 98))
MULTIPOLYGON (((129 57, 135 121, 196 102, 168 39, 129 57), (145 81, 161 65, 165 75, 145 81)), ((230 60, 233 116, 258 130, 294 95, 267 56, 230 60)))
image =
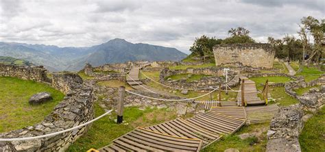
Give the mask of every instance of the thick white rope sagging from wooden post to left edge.
POLYGON ((82 125, 77 125, 75 127, 72 127, 70 129, 65 129, 62 131, 58 131, 58 132, 53 132, 51 134, 46 134, 46 135, 42 135, 42 136, 34 136, 34 137, 25 137, 25 138, 0 138, 0 142, 13 142, 13 141, 23 141, 23 140, 36 140, 39 138, 46 138, 46 137, 50 137, 50 136, 56 136, 58 134, 63 134, 65 132, 74 130, 74 129, 78 129, 80 127, 84 127, 85 125, 88 125, 90 123, 93 123, 94 121, 97 121, 99 118, 102 118, 103 116, 106 116, 107 114, 109 114, 110 112, 112 112, 112 110, 106 112, 105 114, 101 114, 101 116, 98 116, 97 118, 94 118, 91 121, 88 121, 87 123, 84 123, 82 125))

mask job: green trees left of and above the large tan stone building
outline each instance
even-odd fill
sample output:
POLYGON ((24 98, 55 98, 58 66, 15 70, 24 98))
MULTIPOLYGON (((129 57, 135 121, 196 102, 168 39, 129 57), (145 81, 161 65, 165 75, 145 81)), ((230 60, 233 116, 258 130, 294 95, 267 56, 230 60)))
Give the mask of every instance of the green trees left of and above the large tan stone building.
POLYGON ((250 31, 244 27, 231 28, 228 31, 230 37, 222 39, 217 39, 215 37, 209 38, 208 36, 201 36, 200 38, 195 38, 193 46, 190 51, 193 55, 199 56, 203 61, 207 58, 213 57, 213 47, 219 44, 233 44, 233 43, 254 43, 255 41, 248 36, 250 31))

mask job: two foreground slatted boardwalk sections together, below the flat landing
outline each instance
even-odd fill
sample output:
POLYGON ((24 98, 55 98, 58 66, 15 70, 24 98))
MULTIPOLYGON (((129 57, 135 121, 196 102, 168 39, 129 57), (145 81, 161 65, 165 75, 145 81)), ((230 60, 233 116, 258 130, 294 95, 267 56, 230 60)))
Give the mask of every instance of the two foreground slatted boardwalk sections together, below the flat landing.
POLYGON ((245 125, 244 120, 208 111, 188 119, 176 118, 144 129, 135 129, 99 151, 119 151, 119 149, 123 151, 156 151, 156 149, 199 151, 201 147, 219 140, 222 135, 233 134, 243 125, 245 125))

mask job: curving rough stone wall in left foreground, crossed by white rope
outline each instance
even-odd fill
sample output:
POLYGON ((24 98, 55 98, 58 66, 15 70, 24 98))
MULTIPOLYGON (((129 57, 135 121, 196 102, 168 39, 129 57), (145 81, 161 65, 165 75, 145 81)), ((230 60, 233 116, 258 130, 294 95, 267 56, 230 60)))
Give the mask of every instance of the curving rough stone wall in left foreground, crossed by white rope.
MULTIPOLYGON (((67 75, 56 75, 58 79, 53 84, 60 84, 64 90, 69 86, 70 90, 64 100, 54 108, 53 112, 45 117, 45 120, 33 126, 24 127, 6 133, 1 133, 0 138, 23 138, 31 136, 40 136, 62 131, 71 127, 91 121, 94 117, 93 110, 93 88, 80 84, 80 80, 72 80, 73 83, 64 85, 71 80, 67 75), (67 79, 65 79, 67 78, 67 79), (62 84, 62 85, 61 85, 62 84)), ((57 87, 58 87, 57 86, 57 87)), ((37 140, 26 140, 19 142, 0 142, 0 151, 64 151, 77 138, 87 131, 88 127, 75 129, 64 134, 40 138, 37 140)))

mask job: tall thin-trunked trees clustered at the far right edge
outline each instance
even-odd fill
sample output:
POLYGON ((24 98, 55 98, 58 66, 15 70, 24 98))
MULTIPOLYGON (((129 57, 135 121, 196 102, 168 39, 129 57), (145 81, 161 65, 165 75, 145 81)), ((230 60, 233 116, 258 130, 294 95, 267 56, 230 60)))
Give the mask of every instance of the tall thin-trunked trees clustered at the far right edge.
POLYGON ((276 49, 276 57, 304 62, 319 62, 325 55, 324 47, 322 47, 325 20, 318 21, 313 16, 303 17, 299 27, 300 38, 289 35, 285 35, 282 39, 268 38, 269 44, 276 49))

